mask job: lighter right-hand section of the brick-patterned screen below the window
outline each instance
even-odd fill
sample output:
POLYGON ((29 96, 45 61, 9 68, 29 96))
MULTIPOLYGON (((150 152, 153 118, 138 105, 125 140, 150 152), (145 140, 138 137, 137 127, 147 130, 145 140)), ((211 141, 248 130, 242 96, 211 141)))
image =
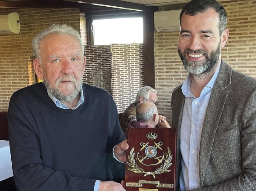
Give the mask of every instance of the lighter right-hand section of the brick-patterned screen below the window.
POLYGON ((112 56, 112 96, 123 112, 144 85, 143 45, 112 44, 112 56))

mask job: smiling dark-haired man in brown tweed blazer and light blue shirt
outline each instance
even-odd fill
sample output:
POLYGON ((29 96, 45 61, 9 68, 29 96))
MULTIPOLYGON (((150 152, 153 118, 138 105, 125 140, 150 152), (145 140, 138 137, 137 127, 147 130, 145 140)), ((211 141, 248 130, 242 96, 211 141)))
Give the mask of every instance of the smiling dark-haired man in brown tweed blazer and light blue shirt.
POLYGON ((256 80, 221 59, 226 22, 215 0, 192 0, 180 14, 188 76, 172 94, 176 191, 256 191, 256 80))

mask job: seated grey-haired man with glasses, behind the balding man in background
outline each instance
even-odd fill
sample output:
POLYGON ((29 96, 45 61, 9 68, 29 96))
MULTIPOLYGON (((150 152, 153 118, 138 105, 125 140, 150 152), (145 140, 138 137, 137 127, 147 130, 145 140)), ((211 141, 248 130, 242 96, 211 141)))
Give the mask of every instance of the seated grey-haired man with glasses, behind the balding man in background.
POLYGON ((149 101, 157 106, 157 95, 155 89, 150 86, 144 86, 138 90, 135 102, 132 103, 124 112, 120 119, 120 125, 123 133, 129 126, 131 121, 136 120, 136 107, 139 103, 149 101))

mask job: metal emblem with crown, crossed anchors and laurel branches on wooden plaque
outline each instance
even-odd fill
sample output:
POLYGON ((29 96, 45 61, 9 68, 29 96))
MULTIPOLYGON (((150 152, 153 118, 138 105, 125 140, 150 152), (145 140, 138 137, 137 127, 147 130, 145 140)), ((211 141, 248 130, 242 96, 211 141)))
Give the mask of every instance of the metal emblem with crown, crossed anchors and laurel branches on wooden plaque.
POLYGON ((140 146, 140 152, 137 152, 137 158, 135 159, 135 153, 134 153, 134 147, 131 149, 130 154, 128 155, 129 162, 127 163, 131 169, 128 169, 129 171, 132 171, 133 173, 143 173, 144 177, 147 175, 152 175, 155 178, 155 174, 161 174, 161 173, 168 173, 170 170, 168 168, 172 165, 171 160, 173 155, 171 155, 171 151, 169 147, 167 147, 167 152, 164 152, 161 146, 163 146, 163 142, 156 142, 153 140, 156 140, 157 134, 153 133, 151 131, 150 133, 146 134, 146 138, 148 140, 151 140, 154 143, 154 145, 149 145, 150 142, 141 142, 140 146), (163 154, 158 156, 157 150, 163 151, 163 154), (145 151, 144 151, 145 150, 145 151), (144 153, 144 154, 143 154, 144 153), (142 155, 143 154, 143 155, 142 155), (149 160, 154 159, 154 160, 149 160), (154 172, 146 172, 143 168, 140 168, 137 164, 138 163, 144 165, 144 166, 156 166, 160 165, 159 168, 157 168, 154 172), (155 161, 152 163, 152 161, 155 161))

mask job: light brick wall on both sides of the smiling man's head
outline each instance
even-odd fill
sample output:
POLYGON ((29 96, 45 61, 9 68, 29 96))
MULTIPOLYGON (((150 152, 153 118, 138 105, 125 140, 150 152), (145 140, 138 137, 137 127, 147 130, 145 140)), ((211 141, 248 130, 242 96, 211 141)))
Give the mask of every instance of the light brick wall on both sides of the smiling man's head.
MULTIPOLYGON (((256 78, 256 1, 221 2, 228 14, 229 40, 221 57, 238 71, 256 78)), ((165 10, 167 10, 165 8, 165 10)), ((159 113, 171 121, 171 94, 187 76, 177 53, 178 32, 155 33, 155 89, 159 113)))

